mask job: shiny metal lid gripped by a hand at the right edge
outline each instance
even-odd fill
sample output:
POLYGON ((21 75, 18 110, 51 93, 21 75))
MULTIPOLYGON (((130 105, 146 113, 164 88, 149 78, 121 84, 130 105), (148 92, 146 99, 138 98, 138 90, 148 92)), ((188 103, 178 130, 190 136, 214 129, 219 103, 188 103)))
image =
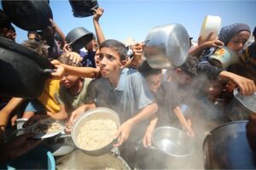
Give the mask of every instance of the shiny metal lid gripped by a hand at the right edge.
POLYGON ((253 95, 242 95, 241 93, 239 93, 238 88, 235 88, 233 94, 235 98, 241 103, 241 105, 243 105, 253 113, 256 113, 256 93, 254 93, 253 95))

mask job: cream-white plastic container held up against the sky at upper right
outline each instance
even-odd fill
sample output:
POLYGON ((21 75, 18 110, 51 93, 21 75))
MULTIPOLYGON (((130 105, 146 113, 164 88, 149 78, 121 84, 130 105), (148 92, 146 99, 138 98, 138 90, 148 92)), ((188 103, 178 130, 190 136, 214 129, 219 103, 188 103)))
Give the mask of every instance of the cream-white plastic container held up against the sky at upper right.
POLYGON ((218 31, 221 25, 221 18, 219 16, 207 15, 201 25, 201 40, 207 39, 208 35, 213 32, 210 40, 213 40, 218 36, 218 31))

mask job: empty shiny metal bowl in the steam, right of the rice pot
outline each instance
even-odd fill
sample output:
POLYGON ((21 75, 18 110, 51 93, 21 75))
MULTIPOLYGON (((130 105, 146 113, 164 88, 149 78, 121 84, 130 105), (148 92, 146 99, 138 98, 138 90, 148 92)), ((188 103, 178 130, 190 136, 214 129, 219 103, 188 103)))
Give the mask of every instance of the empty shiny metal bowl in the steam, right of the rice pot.
POLYGON ((158 150, 168 156, 185 157, 192 153, 192 139, 176 127, 157 127, 152 135, 152 142, 158 150))

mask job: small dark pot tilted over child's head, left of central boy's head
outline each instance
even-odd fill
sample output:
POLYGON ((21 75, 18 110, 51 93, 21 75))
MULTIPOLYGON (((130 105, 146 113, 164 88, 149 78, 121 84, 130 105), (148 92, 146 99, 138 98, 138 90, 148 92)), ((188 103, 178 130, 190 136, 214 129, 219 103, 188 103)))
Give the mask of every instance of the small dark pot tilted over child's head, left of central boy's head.
POLYGON ((93 39, 92 32, 83 27, 74 28, 67 33, 66 41, 73 48, 73 51, 78 51, 93 39))

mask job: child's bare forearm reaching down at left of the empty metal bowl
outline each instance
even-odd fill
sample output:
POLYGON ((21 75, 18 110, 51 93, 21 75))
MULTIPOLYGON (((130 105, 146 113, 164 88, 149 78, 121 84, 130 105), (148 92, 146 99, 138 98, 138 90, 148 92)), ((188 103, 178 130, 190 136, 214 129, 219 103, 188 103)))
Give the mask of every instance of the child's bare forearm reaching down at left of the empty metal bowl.
POLYGON ((143 146, 145 148, 148 148, 148 146, 151 146, 151 137, 152 137, 152 133, 154 131, 154 127, 155 127, 157 121, 158 121, 158 116, 156 114, 154 114, 151 117, 151 120, 150 120, 147 130, 146 130, 146 133, 143 137, 143 146))

